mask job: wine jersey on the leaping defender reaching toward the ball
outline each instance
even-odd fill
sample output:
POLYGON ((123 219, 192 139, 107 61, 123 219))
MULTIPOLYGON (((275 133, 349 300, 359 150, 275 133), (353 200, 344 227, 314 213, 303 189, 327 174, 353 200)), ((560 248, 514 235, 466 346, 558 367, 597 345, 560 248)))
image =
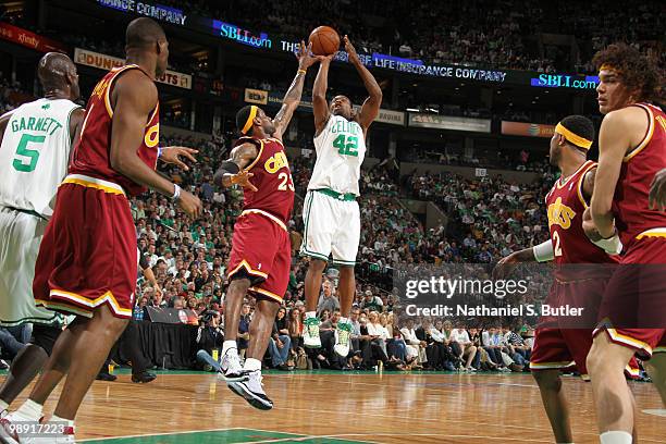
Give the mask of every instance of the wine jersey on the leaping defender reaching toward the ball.
POLYGON ((245 170, 254 174, 250 178, 258 190, 245 188, 243 210, 259 210, 287 224, 294 208, 294 181, 282 141, 275 138, 257 139, 242 137, 236 145, 250 141, 259 155, 245 170))

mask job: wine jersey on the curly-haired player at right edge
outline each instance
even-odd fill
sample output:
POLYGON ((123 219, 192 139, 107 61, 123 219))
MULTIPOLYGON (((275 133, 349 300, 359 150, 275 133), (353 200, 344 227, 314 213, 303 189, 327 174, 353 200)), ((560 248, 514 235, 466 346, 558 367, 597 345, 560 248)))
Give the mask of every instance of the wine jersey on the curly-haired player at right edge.
POLYGON ((634 107, 645 110, 650 125, 643 141, 625 157, 615 188, 613 212, 625 247, 648 231, 661 229, 666 235, 666 212, 651 210, 648 199, 654 175, 666 168, 666 114, 653 104, 634 107))

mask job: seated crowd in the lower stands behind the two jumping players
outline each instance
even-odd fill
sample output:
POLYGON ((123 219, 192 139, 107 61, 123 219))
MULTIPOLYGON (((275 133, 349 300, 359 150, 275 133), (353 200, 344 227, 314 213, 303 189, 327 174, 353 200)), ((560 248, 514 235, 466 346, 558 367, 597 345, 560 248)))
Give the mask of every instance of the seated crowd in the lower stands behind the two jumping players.
MULTIPOLYGON (((224 145, 227 143, 225 140, 224 145)), ((163 197, 146 194, 133 199, 138 246, 156 275, 156 282, 141 278, 137 283, 135 318, 147 319, 146 307, 192 310, 196 314, 194 322, 197 316, 201 320, 200 368, 214 369, 212 348, 219 340, 215 334, 223 328, 225 267, 233 223, 242 208, 242 190, 221 192, 211 183, 222 152, 219 144, 171 137, 163 140, 163 145, 199 149, 199 162, 189 172, 163 164, 160 170, 201 197, 205 211, 197 221, 189 221, 163 197)), ((311 157, 295 157, 291 161, 300 197, 305 196, 312 162, 311 157)), ((552 178, 544 177, 545 181, 552 178)), ((294 244, 289 285, 275 321, 266 363, 282 370, 369 369, 378 365, 395 370, 526 369, 530 347, 519 344, 523 341, 520 335, 509 338, 510 328, 521 329, 522 325, 504 325, 501 335, 496 332, 503 325, 461 324, 453 329, 447 321, 431 324, 428 319, 412 325, 395 312, 399 301, 396 292, 392 292, 387 270, 400 263, 491 263, 513 249, 541 242, 547 233, 543 211, 538 205, 544 187, 510 185, 501 178, 465 181, 457 176, 428 174, 408 177, 407 185, 415 197, 437 201, 453 218, 449 226, 464 227, 455 232, 444 226, 424 231, 396 199, 398 182, 395 173, 384 165, 366 172, 360 185, 362 234, 350 355, 343 359, 333 351, 333 331, 340 318, 334 269, 326 272, 319 303, 318 313, 323 322, 320 330, 322 348, 303 347, 304 282, 308 262, 297 257, 299 233, 303 232, 303 206, 297 198, 289 223, 294 244), (488 330, 479 330, 481 326, 488 330)), ((244 337, 254 310, 251 299, 247 303, 238 341, 240 349, 247 347, 244 337)))

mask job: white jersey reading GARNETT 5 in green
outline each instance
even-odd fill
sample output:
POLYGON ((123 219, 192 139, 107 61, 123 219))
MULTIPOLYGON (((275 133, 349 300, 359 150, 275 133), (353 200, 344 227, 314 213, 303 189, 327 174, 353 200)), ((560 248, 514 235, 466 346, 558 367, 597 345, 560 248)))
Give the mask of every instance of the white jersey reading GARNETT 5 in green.
POLYGON ((39 99, 14 110, 0 146, 0 206, 53 214, 70 161, 70 115, 77 108, 65 99, 39 99))

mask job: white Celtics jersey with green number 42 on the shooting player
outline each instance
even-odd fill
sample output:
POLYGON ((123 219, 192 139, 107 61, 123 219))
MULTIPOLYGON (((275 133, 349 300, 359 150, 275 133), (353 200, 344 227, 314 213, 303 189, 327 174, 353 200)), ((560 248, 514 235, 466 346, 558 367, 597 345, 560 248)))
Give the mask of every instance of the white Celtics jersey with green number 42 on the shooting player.
POLYGON ((326 126, 314 137, 314 149, 317 162, 308 189, 330 188, 358 196, 360 166, 366 157, 361 126, 342 115, 331 114, 326 126))

